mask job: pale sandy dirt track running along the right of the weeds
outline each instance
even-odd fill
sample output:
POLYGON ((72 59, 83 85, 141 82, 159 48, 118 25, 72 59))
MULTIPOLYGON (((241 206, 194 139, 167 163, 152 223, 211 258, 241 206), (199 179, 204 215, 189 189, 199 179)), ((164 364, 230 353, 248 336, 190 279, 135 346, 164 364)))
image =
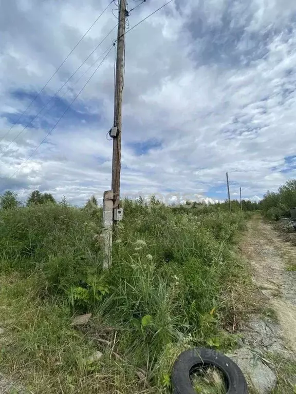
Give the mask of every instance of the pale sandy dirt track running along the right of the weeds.
POLYGON ((248 223, 242 249, 253 268, 253 280, 268 298, 281 326, 285 345, 296 352, 296 247, 283 241, 270 224, 260 218, 248 223))

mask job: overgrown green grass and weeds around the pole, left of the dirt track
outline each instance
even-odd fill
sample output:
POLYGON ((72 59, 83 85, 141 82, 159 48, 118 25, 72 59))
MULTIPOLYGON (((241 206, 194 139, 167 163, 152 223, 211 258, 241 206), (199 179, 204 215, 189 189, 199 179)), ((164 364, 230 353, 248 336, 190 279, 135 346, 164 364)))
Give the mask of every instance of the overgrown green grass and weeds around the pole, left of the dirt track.
POLYGON ((0 370, 31 392, 164 393, 180 351, 235 347, 224 328, 250 285, 235 252, 244 214, 141 199, 124 208, 108 272, 100 209, 0 211, 0 370), (73 328, 86 312, 87 329, 73 328))

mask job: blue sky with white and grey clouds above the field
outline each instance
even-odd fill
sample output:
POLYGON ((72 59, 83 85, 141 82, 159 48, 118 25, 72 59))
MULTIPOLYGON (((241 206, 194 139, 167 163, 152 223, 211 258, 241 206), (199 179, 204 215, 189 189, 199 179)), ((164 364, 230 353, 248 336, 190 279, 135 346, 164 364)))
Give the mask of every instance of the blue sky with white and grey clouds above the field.
MULTIPOLYGON (((110 188, 113 49, 35 149, 116 38, 94 51, 115 4, 21 116, 108 3, 0 0, 0 193, 39 188, 83 204, 110 188)), ((146 0, 130 27, 164 3, 146 0)), ((295 126, 295 2, 175 0, 126 34, 122 195, 223 200, 228 171, 234 197, 241 186, 260 198, 296 178, 295 126)))

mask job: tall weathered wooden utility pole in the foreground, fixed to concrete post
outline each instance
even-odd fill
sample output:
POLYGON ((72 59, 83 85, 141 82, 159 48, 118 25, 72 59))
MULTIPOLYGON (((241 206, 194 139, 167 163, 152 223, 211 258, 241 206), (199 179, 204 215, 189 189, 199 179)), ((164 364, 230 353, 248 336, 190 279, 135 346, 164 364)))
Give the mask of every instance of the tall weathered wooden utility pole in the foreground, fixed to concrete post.
POLYGON ((113 159, 112 159, 112 190, 114 195, 113 196, 114 209, 117 209, 119 207, 119 200, 120 200, 122 91, 123 91, 123 81, 124 81, 124 52, 125 52, 124 51, 125 16, 126 16, 126 0, 119 0, 115 100, 114 100, 114 127, 117 128, 117 133, 116 136, 113 137, 113 159))

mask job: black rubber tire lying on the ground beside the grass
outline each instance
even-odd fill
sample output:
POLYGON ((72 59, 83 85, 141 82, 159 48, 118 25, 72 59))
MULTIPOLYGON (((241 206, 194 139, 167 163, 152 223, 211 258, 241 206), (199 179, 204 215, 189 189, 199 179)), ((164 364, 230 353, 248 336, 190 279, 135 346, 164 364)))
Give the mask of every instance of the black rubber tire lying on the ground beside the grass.
POLYGON ((179 354, 172 372, 173 394, 196 394, 190 373, 194 368, 207 365, 223 372, 227 394, 247 394, 248 386, 241 369, 224 354, 206 348, 194 348, 179 354))

